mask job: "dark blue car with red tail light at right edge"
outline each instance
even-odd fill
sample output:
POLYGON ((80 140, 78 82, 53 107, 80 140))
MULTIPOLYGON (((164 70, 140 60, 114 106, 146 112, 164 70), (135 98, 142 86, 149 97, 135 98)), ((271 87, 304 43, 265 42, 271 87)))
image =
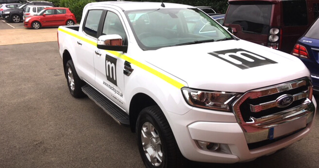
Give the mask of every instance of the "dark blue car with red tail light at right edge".
POLYGON ((319 93, 319 18, 300 37, 295 45, 292 55, 298 56, 301 61, 307 66, 311 73, 312 84, 314 91, 319 93))

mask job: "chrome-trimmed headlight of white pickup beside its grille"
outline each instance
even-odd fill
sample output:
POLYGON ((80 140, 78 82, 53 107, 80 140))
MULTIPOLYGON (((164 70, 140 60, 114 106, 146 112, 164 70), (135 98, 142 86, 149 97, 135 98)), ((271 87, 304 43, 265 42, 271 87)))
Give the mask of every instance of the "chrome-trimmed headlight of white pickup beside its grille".
POLYGON ((187 87, 182 88, 182 93, 190 106, 228 112, 231 104, 241 96, 239 93, 201 91, 187 87))

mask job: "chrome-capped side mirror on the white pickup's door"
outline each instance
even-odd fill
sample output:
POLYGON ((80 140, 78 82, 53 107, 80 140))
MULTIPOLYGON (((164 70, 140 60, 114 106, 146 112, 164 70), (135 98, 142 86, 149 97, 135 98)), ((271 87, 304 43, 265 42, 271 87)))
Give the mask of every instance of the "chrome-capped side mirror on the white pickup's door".
POLYGON ((123 39, 120 35, 102 35, 97 39, 97 48, 126 53, 128 51, 128 46, 124 46, 122 43, 123 39))

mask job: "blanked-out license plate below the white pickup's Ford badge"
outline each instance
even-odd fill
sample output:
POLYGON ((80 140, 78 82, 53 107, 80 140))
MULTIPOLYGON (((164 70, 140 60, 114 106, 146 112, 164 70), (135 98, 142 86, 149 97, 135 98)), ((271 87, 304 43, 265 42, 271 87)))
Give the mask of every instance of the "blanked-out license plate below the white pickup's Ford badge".
POLYGON ((275 139, 283 135, 292 133, 294 131, 300 130, 302 128, 305 128, 307 126, 306 121, 307 117, 301 117, 297 120, 290 121, 288 123, 270 128, 268 132, 268 138, 275 139))

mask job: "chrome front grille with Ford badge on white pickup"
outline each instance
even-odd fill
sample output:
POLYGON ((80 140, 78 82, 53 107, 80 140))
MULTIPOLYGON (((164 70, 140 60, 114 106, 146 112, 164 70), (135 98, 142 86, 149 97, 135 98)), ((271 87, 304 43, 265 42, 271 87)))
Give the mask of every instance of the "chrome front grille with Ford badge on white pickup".
MULTIPOLYGON (((297 129, 312 121, 315 108, 312 103, 312 84, 308 77, 244 93, 234 104, 233 111, 242 127, 247 144, 282 138, 297 130, 276 133, 269 131, 294 120, 297 129), (303 118, 303 119, 302 119, 303 118)), ((275 129, 276 130, 276 129, 275 129)), ((268 141, 267 141, 268 142, 268 141)))

